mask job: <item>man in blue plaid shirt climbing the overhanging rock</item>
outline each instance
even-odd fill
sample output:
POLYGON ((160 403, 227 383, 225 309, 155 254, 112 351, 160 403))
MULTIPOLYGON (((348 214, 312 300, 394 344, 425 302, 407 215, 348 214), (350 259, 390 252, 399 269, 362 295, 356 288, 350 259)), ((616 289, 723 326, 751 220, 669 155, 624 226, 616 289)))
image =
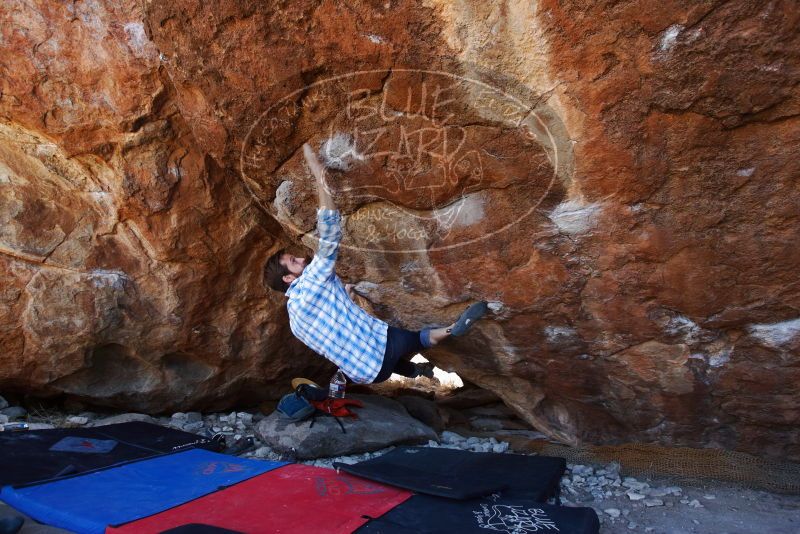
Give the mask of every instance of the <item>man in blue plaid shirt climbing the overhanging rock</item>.
POLYGON ((264 283, 289 298, 292 333, 359 384, 383 382, 392 373, 432 378, 433 365, 415 364, 411 358, 448 336, 463 336, 486 313, 486 302, 469 306, 450 326, 419 332, 391 326, 359 307, 352 287, 342 284, 335 272, 341 216, 325 186, 325 169, 308 144, 303 153, 319 193, 317 253, 309 262, 282 249, 264 266, 264 283))

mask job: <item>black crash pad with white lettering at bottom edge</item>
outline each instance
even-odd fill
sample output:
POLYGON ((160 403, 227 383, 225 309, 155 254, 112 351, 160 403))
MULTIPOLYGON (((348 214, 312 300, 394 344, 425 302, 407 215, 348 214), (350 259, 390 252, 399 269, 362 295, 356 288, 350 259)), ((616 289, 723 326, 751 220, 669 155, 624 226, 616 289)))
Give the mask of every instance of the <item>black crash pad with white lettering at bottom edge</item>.
POLYGON ((597 534, 600 522, 591 508, 570 508, 508 499, 498 495, 454 500, 414 495, 357 534, 597 534))

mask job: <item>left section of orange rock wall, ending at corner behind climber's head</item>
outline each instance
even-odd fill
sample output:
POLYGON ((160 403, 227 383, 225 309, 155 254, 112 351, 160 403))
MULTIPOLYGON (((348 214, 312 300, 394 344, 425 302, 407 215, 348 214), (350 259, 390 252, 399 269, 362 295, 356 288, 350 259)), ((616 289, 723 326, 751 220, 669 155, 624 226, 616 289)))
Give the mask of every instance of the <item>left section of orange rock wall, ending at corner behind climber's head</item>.
POLYGON ((261 285, 279 227, 193 137, 140 3, 0 17, 0 389, 168 411, 319 372, 261 285))

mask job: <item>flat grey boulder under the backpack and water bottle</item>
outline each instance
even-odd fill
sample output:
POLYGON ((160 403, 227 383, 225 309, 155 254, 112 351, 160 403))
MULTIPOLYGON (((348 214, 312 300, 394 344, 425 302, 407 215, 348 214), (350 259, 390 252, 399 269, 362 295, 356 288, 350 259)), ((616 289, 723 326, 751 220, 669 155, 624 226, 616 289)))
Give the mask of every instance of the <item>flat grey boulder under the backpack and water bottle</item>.
POLYGON ((363 402, 364 407, 353 409, 357 419, 339 419, 344 432, 329 415, 295 423, 273 412, 258 424, 256 434, 275 452, 298 460, 359 454, 437 439, 430 427, 411 417, 397 401, 377 395, 349 398, 363 402))

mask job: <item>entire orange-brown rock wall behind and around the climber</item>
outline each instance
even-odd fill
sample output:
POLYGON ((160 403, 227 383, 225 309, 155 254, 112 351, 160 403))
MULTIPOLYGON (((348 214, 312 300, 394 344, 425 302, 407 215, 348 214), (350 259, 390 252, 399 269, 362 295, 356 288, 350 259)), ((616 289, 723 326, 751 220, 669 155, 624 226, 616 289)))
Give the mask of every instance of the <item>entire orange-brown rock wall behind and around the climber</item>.
POLYGON ((761 4, 4 7, 0 387, 320 374, 260 284, 314 245, 308 141, 378 316, 494 302, 440 366, 568 443, 800 458, 798 14, 761 4))

